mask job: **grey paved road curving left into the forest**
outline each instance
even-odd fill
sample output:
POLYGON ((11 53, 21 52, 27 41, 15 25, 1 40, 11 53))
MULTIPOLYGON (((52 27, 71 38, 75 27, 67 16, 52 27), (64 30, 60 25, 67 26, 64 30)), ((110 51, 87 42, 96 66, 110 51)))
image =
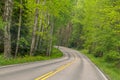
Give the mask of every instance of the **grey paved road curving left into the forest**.
POLYGON ((107 80, 101 71, 76 50, 60 47, 64 57, 0 67, 0 80, 107 80))

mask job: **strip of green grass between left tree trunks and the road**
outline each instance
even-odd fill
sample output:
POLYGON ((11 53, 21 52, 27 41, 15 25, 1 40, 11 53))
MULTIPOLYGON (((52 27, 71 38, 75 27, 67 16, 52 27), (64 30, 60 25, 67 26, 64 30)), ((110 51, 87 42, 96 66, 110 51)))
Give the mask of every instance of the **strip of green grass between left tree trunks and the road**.
POLYGON ((10 64, 19 64, 19 63, 26 63, 26 62, 34 62, 34 61, 41 61, 41 60, 49 60, 54 58, 62 57, 63 54, 58 49, 54 48, 52 51, 51 56, 25 56, 23 58, 18 57, 16 59, 4 59, 3 55, 0 55, 0 66, 10 65, 10 64))

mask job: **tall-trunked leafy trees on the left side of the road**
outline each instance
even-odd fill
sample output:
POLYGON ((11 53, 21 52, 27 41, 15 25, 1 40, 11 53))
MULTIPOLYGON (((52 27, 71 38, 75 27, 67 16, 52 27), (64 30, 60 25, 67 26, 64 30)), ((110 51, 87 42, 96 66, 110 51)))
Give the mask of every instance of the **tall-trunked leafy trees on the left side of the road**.
POLYGON ((8 59, 25 55, 50 56, 56 30, 67 26, 70 21, 72 2, 74 1, 0 1, 1 54, 8 59))

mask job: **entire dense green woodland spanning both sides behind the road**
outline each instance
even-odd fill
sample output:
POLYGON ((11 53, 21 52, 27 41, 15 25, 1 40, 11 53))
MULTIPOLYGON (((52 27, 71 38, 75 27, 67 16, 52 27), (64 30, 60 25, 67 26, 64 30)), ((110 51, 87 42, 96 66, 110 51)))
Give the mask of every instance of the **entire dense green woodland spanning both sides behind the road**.
POLYGON ((1 0, 0 53, 50 56, 53 45, 86 49, 120 65, 120 0, 1 0))

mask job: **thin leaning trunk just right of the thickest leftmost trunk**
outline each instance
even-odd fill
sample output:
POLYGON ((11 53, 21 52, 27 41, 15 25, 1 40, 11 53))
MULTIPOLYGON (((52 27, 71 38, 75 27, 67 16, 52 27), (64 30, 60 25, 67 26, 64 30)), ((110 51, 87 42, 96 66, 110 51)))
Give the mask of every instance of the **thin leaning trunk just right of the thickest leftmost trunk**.
MULTIPOLYGON (((20 0, 20 4, 22 5, 22 0, 20 0)), ((20 30, 21 30, 21 22, 22 22, 22 7, 20 7, 20 15, 19 15, 19 25, 18 25, 18 35, 17 35, 17 43, 16 43, 15 57, 17 57, 17 55, 18 55, 19 40, 20 40, 20 30)))

